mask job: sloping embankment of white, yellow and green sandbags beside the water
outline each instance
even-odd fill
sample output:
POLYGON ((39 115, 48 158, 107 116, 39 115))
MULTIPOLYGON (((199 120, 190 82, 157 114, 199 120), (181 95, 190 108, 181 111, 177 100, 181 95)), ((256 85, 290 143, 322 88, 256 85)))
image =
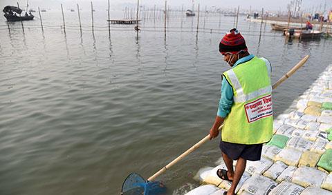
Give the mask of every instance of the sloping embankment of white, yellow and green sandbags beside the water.
MULTIPOLYGON (((247 161, 237 194, 332 194, 332 65, 274 120, 273 138, 260 161, 247 161)), ((223 159, 194 177, 201 185, 186 195, 223 194, 232 185, 216 176, 223 159)))

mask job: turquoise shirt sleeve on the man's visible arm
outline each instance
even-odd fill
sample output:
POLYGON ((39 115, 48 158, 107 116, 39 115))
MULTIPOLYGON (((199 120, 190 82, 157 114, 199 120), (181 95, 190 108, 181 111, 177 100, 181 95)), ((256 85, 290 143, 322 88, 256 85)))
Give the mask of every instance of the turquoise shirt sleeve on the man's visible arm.
POLYGON ((221 98, 216 115, 225 118, 230 113, 230 108, 233 105, 233 95, 232 86, 225 79, 225 76, 223 76, 223 80, 221 81, 221 98))

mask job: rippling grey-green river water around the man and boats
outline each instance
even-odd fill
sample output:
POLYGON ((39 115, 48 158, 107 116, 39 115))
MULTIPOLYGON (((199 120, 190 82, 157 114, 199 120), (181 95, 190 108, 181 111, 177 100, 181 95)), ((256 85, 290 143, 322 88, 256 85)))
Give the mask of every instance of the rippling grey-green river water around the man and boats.
MULTIPOLYGON (((77 12, 66 10, 66 33, 59 10, 42 13, 44 32, 39 19, 23 32, 2 17, 0 194, 118 194, 129 173, 148 178, 208 134, 229 69, 219 41, 234 18, 201 16, 198 37, 196 17, 169 17, 166 39, 163 19, 142 22, 138 38, 133 25, 111 25, 109 37, 104 10, 93 33, 82 11, 82 37, 77 12)), ((272 63, 273 83, 310 55, 273 93, 275 116, 331 63, 331 39, 285 41, 243 17, 238 26, 249 52, 272 63)), ((160 176, 168 194, 199 185, 194 174, 220 158, 218 145, 160 176)))

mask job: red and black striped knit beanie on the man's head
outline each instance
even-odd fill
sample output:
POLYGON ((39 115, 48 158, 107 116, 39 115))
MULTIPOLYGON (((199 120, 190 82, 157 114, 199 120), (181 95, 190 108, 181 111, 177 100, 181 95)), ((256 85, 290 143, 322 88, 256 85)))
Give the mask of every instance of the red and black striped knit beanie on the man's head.
POLYGON ((246 41, 244 41, 240 32, 236 28, 233 28, 221 39, 219 52, 221 54, 225 54, 226 52, 237 54, 241 51, 248 51, 246 41))

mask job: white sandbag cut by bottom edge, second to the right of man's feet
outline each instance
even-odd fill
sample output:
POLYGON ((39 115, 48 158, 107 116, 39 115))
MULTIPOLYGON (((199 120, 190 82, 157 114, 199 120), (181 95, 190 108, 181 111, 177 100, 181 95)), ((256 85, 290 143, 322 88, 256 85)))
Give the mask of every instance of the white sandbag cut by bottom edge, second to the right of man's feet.
POLYGON ((269 195, 299 195, 304 190, 304 187, 283 181, 277 187, 273 188, 269 195))

